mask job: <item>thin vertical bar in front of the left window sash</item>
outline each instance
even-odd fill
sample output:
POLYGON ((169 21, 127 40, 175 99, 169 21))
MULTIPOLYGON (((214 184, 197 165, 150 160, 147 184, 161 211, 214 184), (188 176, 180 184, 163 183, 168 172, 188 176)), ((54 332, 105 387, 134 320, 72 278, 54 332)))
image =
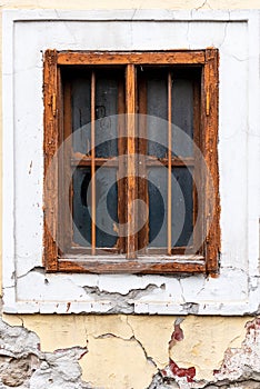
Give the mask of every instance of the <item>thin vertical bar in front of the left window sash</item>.
POLYGON ((96 255, 96 166, 94 166, 96 73, 91 72, 91 253, 96 255))

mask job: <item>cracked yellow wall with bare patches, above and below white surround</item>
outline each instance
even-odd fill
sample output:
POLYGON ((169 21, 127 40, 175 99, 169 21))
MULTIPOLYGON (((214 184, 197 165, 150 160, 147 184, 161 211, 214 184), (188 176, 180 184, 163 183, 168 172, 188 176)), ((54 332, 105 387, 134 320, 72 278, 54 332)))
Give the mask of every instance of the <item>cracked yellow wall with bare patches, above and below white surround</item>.
MULTIPOLYGON (((107 8, 108 1, 94 6, 107 8)), ((124 9, 251 9, 260 8, 260 1, 152 0, 148 7, 148 1, 143 0, 113 0, 109 6, 124 9)), ((90 0, 9 0, 0 3, 1 9, 92 7, 90 0)), ((189 316, 180 325, 183 339, 179 340, 174 339, 177 335, 172 336, 176 317, 6 315, 3 319, 19 327, 0 323, 0 377, 4 382, 0 388, 28 388, 29 382, 33 389, 217 388, 217 383, 221 388, 260 387, 256 365, 256 360, 260 360, 259 328, 250 328, 250 325, 244 328, 252 318, 189 316), (179 371, 176 365, 169 363, 169 358, 182 369, 194 367, 197 382, 188 383, 180 377, 179 383, 172 377, 163 381, 163 369, 179 371), (214 370, 219 371, 213 375, 214 370)))

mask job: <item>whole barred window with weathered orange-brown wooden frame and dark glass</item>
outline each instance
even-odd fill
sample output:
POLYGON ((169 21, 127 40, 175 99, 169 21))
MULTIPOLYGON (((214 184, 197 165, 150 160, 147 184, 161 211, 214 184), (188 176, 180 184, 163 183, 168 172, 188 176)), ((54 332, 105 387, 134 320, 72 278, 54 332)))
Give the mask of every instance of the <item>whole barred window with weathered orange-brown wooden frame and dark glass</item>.
POLYGON ((44 54, 49 271, 217 272, 218 50, 44 54))

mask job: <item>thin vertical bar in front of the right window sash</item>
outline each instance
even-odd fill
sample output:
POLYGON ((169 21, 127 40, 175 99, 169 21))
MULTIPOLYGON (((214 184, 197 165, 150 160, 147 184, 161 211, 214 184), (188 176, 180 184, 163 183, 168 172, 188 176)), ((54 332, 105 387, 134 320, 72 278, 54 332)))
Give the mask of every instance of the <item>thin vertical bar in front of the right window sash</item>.
POLYGON ((172 138, 172 131, 171 131, 171 104, 172 104, 172 94, 171 94, 171 87, 172 87, 172 77, 171 72, 168 72, 168 225, 167 225, 167 246, 168 246, 168 255, 171 255, 171 138, 172 138))

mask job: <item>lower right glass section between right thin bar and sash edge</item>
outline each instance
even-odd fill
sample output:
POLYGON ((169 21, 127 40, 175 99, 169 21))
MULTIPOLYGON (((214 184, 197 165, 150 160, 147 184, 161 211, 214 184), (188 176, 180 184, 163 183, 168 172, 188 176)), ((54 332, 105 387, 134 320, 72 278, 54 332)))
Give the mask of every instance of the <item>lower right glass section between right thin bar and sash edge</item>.
POLYGON ((172 168, 172 247, 187 246, 193 227, 192 176, 187 168, 172 168))

